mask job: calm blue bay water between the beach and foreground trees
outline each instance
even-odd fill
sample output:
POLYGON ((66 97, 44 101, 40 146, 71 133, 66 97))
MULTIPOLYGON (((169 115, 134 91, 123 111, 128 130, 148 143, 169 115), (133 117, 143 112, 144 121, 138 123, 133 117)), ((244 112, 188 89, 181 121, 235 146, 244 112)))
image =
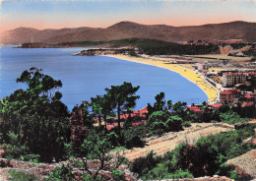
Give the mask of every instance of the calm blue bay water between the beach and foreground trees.
POLYGON ((165 93, 165 99, 188 104, 201 103, 207 95, 179 74, 158 67, 128 62, 103 56, 71 56, 81 48, 22 49, 2 46, 0 59, 0 98, 18 89, 16 79, 31 67, 42 68, 43 73, 61 80, 62 101, 71 110, 83 100, 104 94, 105 88, 130 82, 140 86, 141 98, 136 108, 155 102, 155 95, 165 93))

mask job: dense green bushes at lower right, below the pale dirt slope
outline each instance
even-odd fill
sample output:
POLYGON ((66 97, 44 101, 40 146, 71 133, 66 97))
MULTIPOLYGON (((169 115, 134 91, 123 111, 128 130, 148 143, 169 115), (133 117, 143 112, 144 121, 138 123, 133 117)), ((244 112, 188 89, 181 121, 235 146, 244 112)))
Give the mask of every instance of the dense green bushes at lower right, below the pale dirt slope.
POLYGON ((252 144, 242 144, 244 139, 254 135, 254 128, 256 125, 247 125, 231 132, 201 138, 195 146, 181 143, 175 150, 168 151, 161 157, 154 156, 151 151, 147 156, 135 159, 130 169, 144 180, 214 174, 236 179, 239 176, 225 161, 256 149, 252 144))

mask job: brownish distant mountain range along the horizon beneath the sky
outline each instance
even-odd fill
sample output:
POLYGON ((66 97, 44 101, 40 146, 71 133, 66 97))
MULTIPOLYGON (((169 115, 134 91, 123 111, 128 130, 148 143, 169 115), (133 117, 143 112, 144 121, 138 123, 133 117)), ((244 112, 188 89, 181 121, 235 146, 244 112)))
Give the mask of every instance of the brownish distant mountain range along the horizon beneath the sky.
POLYGON ((256 23, 237 21, 203 26, 172 27, 120 22, 106 29, 36 30, 32 28, 18 28, 4 31, 0 35, 2 44, 19 44, 25 42, 55 44, 78 41, 109 41, 132 37, 159 39, 168 42, 199 39, 243 39, 244 41, 255 42, 256 23))

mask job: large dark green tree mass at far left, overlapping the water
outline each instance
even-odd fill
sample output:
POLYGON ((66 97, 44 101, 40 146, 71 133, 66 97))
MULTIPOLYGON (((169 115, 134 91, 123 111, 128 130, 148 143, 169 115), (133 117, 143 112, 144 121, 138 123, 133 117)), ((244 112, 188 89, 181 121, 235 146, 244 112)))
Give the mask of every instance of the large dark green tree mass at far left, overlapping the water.
POLYGON ((69 113, 58 91, 61 82, 33 67, 17 82, 27 84, 28 89, 15 91, 1 102, 3 141, 12 145, 13 157, 17 157, 15 147, 26 147, 29 151, 18 151, 20 155, 39 154, 42 161, 60 159, 64 143, 70 139, 69 113))

